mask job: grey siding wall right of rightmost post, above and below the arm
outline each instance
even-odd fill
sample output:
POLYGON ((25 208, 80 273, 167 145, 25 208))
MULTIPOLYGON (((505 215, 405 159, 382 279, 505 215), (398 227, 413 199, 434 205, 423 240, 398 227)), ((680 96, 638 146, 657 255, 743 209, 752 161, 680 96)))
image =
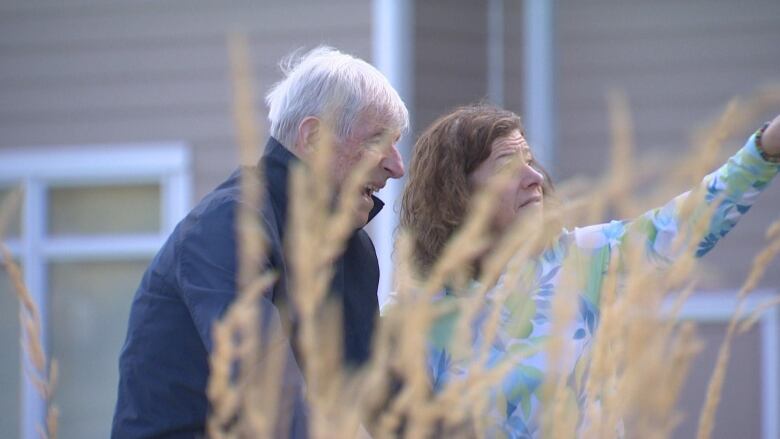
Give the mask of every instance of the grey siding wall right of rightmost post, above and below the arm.
MULTIPOLYGON (((560 0, 556 8, 558 180, 594 177, 609 165, 605 95, 612 87, 630 100, 637 152, 668 159, 687 148, 692 129, 717 117, 731 98, 780 79, 776 1, 560 0)), ((775 104, 764 118, 777 111, 775 104)), ((735 151, 755 128, 734 133, 724 148, 735 151)), ((775 181, 703 260, 713 280, 701 288, 739 288, 765 242, 764 231, 777 219, 778 205, 780 181, 775 181)), ((775 292, 779 264, 772 262, 762 282, 775 292)), ((683 389, 685 418, 676 437, 695 434, 724 328, 699 326, 705 349, 683 389)), ((735 340, 713 437, 761 437, 760 347, 755 332, 735 340)))

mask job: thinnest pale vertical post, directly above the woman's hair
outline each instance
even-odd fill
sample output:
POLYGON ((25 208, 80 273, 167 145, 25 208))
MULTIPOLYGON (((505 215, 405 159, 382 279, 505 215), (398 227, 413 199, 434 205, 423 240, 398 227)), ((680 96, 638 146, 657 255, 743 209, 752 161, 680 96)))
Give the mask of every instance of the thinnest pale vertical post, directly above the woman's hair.
POLYGON ((489 0, 487 13, 488 99, 504 106, 504 0, 489 0))

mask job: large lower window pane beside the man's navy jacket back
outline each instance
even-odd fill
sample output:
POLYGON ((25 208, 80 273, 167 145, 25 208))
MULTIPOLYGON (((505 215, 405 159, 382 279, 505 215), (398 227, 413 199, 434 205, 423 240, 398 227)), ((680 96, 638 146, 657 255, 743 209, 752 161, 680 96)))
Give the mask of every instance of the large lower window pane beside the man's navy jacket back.
POLYGON ((50 342, 60 364, 60 437, 109 437, 119 352, 148 261, 49 265, 50 342))

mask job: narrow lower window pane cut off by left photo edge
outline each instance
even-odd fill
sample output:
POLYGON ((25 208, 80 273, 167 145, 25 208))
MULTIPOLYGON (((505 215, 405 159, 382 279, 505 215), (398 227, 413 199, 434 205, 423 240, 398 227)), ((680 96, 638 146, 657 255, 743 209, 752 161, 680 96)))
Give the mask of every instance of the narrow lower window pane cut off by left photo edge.
POLYGON ((6 437, 19 437, 19 334, 19 302, 5 265, 0 265, 0 431, 6 437))

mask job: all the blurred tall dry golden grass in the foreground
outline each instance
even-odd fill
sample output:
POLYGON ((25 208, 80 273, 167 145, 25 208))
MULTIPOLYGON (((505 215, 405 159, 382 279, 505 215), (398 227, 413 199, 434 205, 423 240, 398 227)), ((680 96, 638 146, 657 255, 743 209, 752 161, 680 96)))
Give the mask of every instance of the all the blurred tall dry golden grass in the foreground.
MULTIPOLYGON (((249 79, 246 41, 242 37, 231 39, 230 54, 241 161, 248 163, 259 145, 259 130, 253 112, 254 91, 249 79)), ((311 436, 488 435, 491 426, 484 414, 492 404, 491 389, 500 385, 513 366, 534 352, 517 352, 499 365, 490 366, 486 347, 499 331, 503 304, 528 294, 517 286, 528 277, 527 267, 534 255, 559 232, 559 223, 595 223, 607 212, 635 216, 685 188, 697 186, 722 159, 719 151, 724 139, 755 125, 757 116, 777 103, 780 103, 778 89, 760 90, 748 99, 735 100, 720 119, 695 136, 688 157, 670 164, 637 158, 628 102, 620 93, 611 93, 608 96, 613 140, 611 169, 601 181, 561 185, 559 195, 566 202, 546 211, 547 218, 553 220, 552 227, 519 223, 491 246, 489 212, 496 203, 498 189, 506 184, 512 171, 509 167, 477 194, 468 218, 427 274, 423 275, 414 266, 413 237, 408 231, 398 232, 396 301, 379 320, 371 358, 359 370, 342 366, 341 310, 327 299, 332 262, 343 251, 353 230, 351 212, 355 200, 345 197, 338 205, 332 205, 334 187, 328 172, 331 151, 324 147, 328 141, 323 138, 309 166, 292 172, 287 243, 292 276, 290 294, 300 325, 297 338, 290 341, 296 344, 300 354, 311 436), (640 160, 645 166, 637 171, 635 164, 640 160), (656 185, 657 190, 637 195, 635 189, 640 187, 641 180, 658 172, 662 164, 666 165, 667 178, 656 185), (490 252, 485 255, 488 248, 490 252), (484 256, 481 270, 473 282, 474 261, 481 256, 484 256), (445 286, 457 301, 436 300, 445 286), (472 323, 487 302, 492 306, 480 327, 486 343, 475 348, 471 342, 472 323), (452 313, 459 316, 452 326, 452 355, 468 365, 469 374, 433 392, 425 357, 428 336, 437 319, 452 313)), ((367 171, 367 164, 361 163, 347 182, 346 193, 361 186, 367 171)), ((291 416, 290 395, 284 394, 280 384, 289 373, 286 370, 288 334, 282 326, 273 329, 259 323, 267 315, 258 303, 276 280, 275 273, 262 268, 266 249, 263 229, 255 215, 262 203, 262 184, 262 175, 244 173, 237 239, 241 291, 213 329, 207 393, 212 407, 208 434, 215 438, 283 435, 291 416), (262 333, 259 329, 270 332, 262 333)), ((701 191, 694 191, 686 200, 683 217, 692 226, 675 243, 680 256, 662 275, 644 262, 640 243, 628 243, 621 255, 609 261, 601 284, 600 323, 587 355, 577 363, 573 376, 555 367, 545 373, 540 414, 544 437, 666 438, 683 416, 691 415, 681 413, 677 404, 701 343, 695 327, 679 323, 675 316, 694 291, 700 270, 693 250, 706 232, 712 213, 712 207, 702 207, 703 197, 701 191), (663 306, 669 297, 675 297, 671 313, 663 306), (573 398, 575 394, 584 398, 573 398)), ((2 212, 8 209, 4 207, 2 212)), ((777 224, 770 229, 768 246, 756 258, 740 291, 740 301, 755 288, 771 259, 780 251, 778 230, 777 224)), ((30 376, 48 399, 56 382, 56 363, 46 363, 36 341, 40 321, 35 303, 26 294, 18 269, 5 247, 3 252, 6 268, 23 304, 23 341, 35 366, 30 376)), ((553 336, 542 347, 549 364, 574 361, 566 335, 576 312, 576 270, 567 268, 573 263, 564 262, 552 304, 553 336)), ((767 303, 760 309, 775 303, 767 303)), ((756 321, 757 315, 742 315, 741 306, 735 310, 699 415, 700 438, 710 437, 715 425, 731 344, 740 331, 756 321)), ((56 415, 56 409, 52 408, 43 435, 56 436, 56 415)))

